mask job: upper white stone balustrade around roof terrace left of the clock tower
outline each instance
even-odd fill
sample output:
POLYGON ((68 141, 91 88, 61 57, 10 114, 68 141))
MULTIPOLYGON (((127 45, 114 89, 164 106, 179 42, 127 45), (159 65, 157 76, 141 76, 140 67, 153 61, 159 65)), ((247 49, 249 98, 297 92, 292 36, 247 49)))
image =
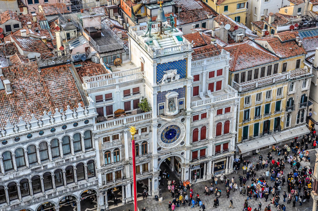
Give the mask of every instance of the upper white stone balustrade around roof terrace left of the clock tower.
POLYGON ((113 72, 104 75, 83 77, 84 86, 86 89, 96 87, 120 84, 126 81, 137 80, 143 77, 143 71, 140 67, 129 69, 120 72, 113 72))

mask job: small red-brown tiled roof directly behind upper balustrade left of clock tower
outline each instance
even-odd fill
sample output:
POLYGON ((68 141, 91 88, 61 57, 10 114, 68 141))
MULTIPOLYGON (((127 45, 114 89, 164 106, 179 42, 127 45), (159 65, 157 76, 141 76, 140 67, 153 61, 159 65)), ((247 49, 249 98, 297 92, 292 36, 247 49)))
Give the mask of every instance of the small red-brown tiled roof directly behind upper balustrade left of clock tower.
POLYGON ((96 76, 106 74, 106 70, 103 65, 96 64, 90 60, 74 62, 76 65, 76 71, 79 74, 79 78, 83 82, 83 77, 85 76, 96 76))

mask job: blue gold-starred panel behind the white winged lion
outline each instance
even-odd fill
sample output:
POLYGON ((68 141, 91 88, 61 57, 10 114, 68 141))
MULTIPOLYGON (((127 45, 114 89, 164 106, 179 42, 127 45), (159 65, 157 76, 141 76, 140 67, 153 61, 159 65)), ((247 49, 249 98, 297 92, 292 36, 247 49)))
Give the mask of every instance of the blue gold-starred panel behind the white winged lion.
POLYGON ((178 70, 178 74, 180 75, 180 78, 186 77, 186 71, 187 71, 187 59, 178 60, 174 62, 167 62, 163 64, 157 64, 157 83, 161 80, 164 72, 167 70, 178 70))

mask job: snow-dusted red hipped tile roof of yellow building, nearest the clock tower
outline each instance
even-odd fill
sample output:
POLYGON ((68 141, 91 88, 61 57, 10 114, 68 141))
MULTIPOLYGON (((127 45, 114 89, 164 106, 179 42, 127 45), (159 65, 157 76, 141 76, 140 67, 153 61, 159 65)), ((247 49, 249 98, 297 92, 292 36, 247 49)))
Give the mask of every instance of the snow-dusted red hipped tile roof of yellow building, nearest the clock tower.
POLYGON ((259 47, 250 40, 244 43, 226 46, 224 50, 230 53, 230 71, 232 72, 279 60, 277 56, 259 47))

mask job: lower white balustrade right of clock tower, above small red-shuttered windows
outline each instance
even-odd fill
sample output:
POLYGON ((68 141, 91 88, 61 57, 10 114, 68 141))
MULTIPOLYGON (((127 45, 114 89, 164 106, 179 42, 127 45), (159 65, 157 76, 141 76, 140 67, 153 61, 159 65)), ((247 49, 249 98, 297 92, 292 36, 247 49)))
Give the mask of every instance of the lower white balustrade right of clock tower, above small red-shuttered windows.
MULTIPOLYGON (((213 104, 213 103, 217 103, 217 102, 221 102, 221 101, 224 101, 224 100, 229 100, 231 98, 238 97, 238 92, 235 89, 233 89, 230 85, 227 85, 226 90, 229 93, 221 94, 221 95, 218 95, 218 96, 213 96, 212 98, 197 100, 197 101, 191 102, 190 106, 191 106, 191 108, 196 108, 196 107, 200 107, 200 106, 204 106, 204 105, 210 105, 210 104, 213 104)), ((207 97, 207 95, 205 95, 205 97, 207 97)))

